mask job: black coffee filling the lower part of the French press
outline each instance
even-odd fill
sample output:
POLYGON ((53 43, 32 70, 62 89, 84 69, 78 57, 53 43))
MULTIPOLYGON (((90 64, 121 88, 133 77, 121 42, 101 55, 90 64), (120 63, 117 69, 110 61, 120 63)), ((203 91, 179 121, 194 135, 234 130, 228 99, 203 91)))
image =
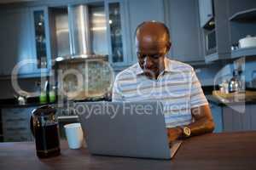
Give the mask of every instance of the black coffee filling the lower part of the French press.
POLYGON ((38 157, 46 158, 60 155, 61 150, 58 130, 57 123, 34 127, 38 157))

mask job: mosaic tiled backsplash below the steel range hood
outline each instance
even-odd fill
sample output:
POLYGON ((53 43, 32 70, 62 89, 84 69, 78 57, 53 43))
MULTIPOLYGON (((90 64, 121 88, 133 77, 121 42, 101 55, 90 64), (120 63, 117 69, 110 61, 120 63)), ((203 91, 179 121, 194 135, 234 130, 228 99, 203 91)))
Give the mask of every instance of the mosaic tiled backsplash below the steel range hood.
MULTIPOLYGON (((82 79, 74 74, 69 74, 62 78, 63 88, 66 92, 74 92, 79 87, 79 81, 82 81, 82 91, 76 95, 75 99, 85 99, 93 97, 101 97, 111 90, 113 74, 108 63, 102 59, 86 60, 79 62, 65 63, 59 68, 65 74, 68 71, 78 71, 82 75, 82 79)), ((58 75, 60 77, 60 75, 58 75)), ((61 85, 61 78, 58 78, 61 85)), ((70 97, 69 97, 70 98, 70 97)), ((71 97, 73 98, 73 97, 71 97)))

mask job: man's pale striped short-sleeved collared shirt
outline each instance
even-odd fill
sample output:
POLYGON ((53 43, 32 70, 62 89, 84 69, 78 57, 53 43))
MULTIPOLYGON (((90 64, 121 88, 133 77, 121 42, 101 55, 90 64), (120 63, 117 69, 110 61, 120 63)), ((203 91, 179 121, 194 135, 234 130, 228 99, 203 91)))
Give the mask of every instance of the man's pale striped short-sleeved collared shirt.
POLYGON ((165 58, 165 71, 156 80, 143 74, 137 63, 119 72, 113 84, 113 101, 158 100, 164 105, 166 127, 191 123, 191 108, 208 105, 194 69, 165 58))

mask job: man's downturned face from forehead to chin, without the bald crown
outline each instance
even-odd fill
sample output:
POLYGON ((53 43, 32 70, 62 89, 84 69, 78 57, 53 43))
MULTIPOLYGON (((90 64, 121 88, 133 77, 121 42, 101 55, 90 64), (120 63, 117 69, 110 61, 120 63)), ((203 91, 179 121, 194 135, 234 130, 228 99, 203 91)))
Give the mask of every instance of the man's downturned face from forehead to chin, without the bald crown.
POLYGON ((156 78, 165 69, 165 55, 168 53, 167 42, 140 42, 137 41, 137 59, 150 78, 156 78))

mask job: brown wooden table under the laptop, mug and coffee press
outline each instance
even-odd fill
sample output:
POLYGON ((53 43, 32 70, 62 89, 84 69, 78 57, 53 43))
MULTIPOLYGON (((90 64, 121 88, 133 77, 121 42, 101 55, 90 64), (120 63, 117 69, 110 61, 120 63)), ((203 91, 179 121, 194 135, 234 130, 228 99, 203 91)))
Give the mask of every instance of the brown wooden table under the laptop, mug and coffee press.
POLYGON ((38 159, 33 143, 0 143, 0 169, 256 169, 256 132, 212 133, 187 139, 172 161, 91 156, 61 143, 61 156, 38 159))

